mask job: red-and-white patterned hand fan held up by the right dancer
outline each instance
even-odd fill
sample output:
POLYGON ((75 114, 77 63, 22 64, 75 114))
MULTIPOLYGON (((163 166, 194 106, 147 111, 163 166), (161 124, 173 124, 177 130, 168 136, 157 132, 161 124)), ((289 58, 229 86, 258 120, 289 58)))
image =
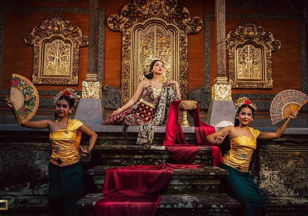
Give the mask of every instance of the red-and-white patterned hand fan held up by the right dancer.
POLYGON ((300 110, 308 102, 308 96, 300 91, 285 90, 275 96, 270 106, 270 118, 275 124, 300 110))

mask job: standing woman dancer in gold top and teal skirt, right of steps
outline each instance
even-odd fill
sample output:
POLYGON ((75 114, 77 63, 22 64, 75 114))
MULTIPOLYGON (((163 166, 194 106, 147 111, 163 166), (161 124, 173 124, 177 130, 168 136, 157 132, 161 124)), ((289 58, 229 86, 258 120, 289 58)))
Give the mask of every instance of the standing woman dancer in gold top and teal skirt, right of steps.
POLYGON ((234 108, 237 112, 236 126, 225 127, 208 135, 206 139, 215 145, 220 145, 225 137, 230 139, 231 149, 225 154, 224 162, 220 164, 221 168, 229 171, 229 175, 222 178, 221 185, 225 190, 224 193, 241 203, 236 215, 265 215, 265 199, 248 172, 251 156, 257 147, 257 138, 281 137, 290 119, 296 118, 298 111, 292 112, 275 132, 263 132, 248 127, 253 121, 254 112, 257 111, 254 103, 243 97, 236 101, 234 108))

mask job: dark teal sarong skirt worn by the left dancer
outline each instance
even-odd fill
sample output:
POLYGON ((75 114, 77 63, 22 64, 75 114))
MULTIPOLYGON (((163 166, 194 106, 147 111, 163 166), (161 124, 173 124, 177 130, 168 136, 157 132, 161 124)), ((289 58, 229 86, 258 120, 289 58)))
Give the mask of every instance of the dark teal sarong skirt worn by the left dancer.
POLYGON ((83 197, 81 162, 68 166, 49 163, 48 201, 54 216, 77 216, 76 202, 83 197))

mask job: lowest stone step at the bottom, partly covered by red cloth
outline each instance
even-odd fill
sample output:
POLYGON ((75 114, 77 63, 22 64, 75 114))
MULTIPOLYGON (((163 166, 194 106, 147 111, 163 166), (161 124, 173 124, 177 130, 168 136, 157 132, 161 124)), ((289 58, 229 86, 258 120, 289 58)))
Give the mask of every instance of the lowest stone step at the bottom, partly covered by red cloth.
MULTIPOLYGON (((96 201, 103 198, 102 193, 88 193, 76 206, 81 215, 91 215, 96 201)), ((158 203, 156 216, 187 215, 232 215, 240 203, 226 194, 163 194, 158 203)))

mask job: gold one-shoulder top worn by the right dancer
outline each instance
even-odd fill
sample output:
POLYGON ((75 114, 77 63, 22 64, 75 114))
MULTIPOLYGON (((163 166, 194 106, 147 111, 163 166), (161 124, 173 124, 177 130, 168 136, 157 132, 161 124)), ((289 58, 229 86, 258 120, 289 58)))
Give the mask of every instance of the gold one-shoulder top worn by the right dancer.
POLYGON ((253 137, 239 136, 230 139, 231 149, 224 156, 224 164, 241 172, 248 172, 253 151, 257 147, 259 130, 248 127, 253 137))

